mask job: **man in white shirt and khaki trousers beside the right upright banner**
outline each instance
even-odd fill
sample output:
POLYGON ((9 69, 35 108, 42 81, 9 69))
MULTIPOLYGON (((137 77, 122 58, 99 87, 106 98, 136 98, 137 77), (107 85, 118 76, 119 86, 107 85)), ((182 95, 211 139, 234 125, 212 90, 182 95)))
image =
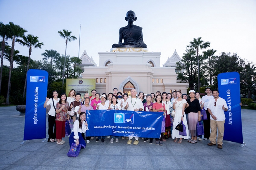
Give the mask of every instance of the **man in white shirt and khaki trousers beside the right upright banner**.
POLYGON ((210 99, 207 104, 207 110, 210 113, 210 143, 208 146, 216 145, 217 129, 218 129, 218 139, 217 144, 218 148, 222 149, 222 140, 224 135, 224 123, 225 123, 225 114, 224 111, 228 111, 227 102, 219 97, 219 91, 214 89, 212 90, 213 99, 210 99))

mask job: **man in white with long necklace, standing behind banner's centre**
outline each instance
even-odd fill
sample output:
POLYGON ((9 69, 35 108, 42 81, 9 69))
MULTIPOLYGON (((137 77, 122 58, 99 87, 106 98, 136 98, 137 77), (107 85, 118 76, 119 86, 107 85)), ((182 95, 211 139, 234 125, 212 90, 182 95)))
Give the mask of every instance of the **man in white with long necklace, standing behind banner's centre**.
MULTIPOLYGON (((136 97, 136 89, 131 90, 131 97, 127 99, 127 104, 124 107, 125 110, 130 110, 130 111, 143 111, 143 103, 141 99, 136 97)), ((129 140, 127 141, 127 144, 132 143, 133 137, 129 137, 129 140)), ((135 141, 133 142, 134 145, 139 144, 139 138, 135 137, 135 141)))

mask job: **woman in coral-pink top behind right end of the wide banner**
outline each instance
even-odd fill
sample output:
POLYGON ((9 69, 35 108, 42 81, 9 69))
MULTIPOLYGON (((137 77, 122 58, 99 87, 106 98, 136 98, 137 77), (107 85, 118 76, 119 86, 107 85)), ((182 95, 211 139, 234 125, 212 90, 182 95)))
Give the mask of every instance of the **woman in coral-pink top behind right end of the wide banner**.
MULTIPOLYGON (((165 105, 162 103, 163 97, 158 94, 156 96, 156 103, 153 104, 152 108, 153 108, 153 112, 163 112, 163 114, 165 115, 165 105)), ((160 136, 160 142, 159 139, 156 138, 156 145, 163 145, 163 132, 161 133, 160 136)))

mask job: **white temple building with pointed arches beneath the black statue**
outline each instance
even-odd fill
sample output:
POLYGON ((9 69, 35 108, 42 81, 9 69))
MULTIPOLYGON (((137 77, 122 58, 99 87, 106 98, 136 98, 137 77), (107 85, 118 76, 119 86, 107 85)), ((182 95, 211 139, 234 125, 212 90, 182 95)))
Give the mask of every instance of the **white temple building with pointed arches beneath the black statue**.
POLYGON ((147 48, 112 48, 110 52, 99 52, 99 66, 84 50, 80 59, 83 69, 81 77, 95 79, 99 93, 113 92, 117 87, 130 94, 135 88, 144 94, 171 92, 181 90, 187 92, 187 83, 177 81, 176 62, 181 58, 176 50, 160 67, 161 52, 150 52, 147 48))

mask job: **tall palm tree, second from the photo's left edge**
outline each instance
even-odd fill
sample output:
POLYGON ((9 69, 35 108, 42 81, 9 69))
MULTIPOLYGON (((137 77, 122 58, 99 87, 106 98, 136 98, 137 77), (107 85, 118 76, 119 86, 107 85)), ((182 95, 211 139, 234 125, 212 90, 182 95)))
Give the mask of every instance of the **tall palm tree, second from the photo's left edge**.
POLYGON ((27 32, 24 28, 20 27, 17 24, 13 24, 13 22, 9 22, 8 25, 9 29, 9 36, 12 39, 12 48, 11 48, 11 55, 10 55, 10 67, 9 67, 9 77, 8 77, 8 87, 7 87, 7 95, 6 95, 6 105, 9 105, 9 95, 10 95, 10 83, 11 83, 11 72, 12 72, 12 63, 13 63, 13 54, 14 54, 14 45, 16 38, 19 38, 27 32))

